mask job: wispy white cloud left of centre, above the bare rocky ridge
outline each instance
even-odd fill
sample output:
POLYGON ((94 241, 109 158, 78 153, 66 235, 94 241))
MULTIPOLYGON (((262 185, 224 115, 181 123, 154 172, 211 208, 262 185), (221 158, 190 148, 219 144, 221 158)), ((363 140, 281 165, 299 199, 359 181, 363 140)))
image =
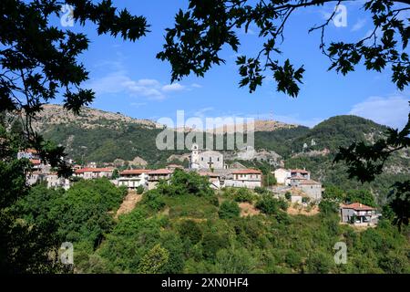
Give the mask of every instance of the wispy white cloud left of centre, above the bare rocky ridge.
POLYGON ((167 93, 186 89, 185 86, 179 83, 163 85, 157 79, 142 78, 134 80, 129 78, 125 70, 118 70, 103 78, 91 79, 87 84, 87 88, 93 89, 97 95, 125 92, 130 96, 149 99, 165 99, 167 93))

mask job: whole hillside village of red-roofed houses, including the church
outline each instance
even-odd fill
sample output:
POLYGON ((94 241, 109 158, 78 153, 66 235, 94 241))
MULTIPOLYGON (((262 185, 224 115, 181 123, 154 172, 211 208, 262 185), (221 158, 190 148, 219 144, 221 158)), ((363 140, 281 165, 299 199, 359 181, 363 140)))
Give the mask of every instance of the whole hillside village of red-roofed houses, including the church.
MULTIPOLYGON (((26 158, 33 164, 33 171, 27 175, 27 183, 32 185, 38 182, 46 182, 47 187, 62 187, 67 190, 70 181, 58 177, 52 172, 49 165, 44 164, 36 150, 29 149, 20 151, 17 158, 26 158)), ((73 165, 74 176, 85 180, 108 178, 117 186, 126 186, 128 190, 136 190, 138 187, 154 189, 161 180, 168 181, 176 169, 183 167, 177 164, 169 164, 165 169, 128 169, 118 173, 118 178, 113 179, 112 167, 97 168, 96 163, 90 163, 87 167, 73 165)), ((245 187, 254 189, 262 186, 262 173, 259 170, 245 168, 241 163, 225 164, 223 154, 219 151, 200 151, 197 144, 193 144, 190 154, 190 166, 187 171, 198 172, 209 178, 210 185, 214 189, 223 187, 245 187)), ((319 202, 322 199, 322 183, 311 179, 311 173, 294 169, 279 168, 272 172, 277 185, 273 186, 273 193, 291 193, 292 203, 303 202, 304 198, 319 202)), ((377 224, 379 214, 373 207, 362 203, 341 205, 340 215, 343 223, 356 225, 377 224)))

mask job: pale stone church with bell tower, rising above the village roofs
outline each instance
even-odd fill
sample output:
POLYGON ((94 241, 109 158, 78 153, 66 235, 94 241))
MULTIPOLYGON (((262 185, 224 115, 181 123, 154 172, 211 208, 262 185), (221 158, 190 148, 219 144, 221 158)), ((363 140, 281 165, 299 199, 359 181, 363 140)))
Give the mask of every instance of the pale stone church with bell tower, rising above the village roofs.
POLYGON ((218 151, 200 151, 198 144, 194 143, 191 147, 190 169, 193 170, 221 170, 224 169, 223 154, 218 151))

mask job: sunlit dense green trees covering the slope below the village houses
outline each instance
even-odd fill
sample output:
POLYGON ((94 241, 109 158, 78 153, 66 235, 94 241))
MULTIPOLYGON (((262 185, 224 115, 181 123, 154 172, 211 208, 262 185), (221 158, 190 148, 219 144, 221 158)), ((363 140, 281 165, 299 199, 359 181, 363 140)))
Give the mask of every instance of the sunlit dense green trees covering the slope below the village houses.
POLYGON ((291 215, 290 202, 267 190, 213 191, 206 178, 176 172, 170 183, 142 194, 128 214, 115 215, 126 195, 108 180, 81 181, 67 192, 38 184, 15 203, 34 226, 74 244, 75 273, 409 273, 408 227, 339 224, 333 199, 374 204, 370 193, 329 189, 319 214, 291 215), (240 203, 254 207, 241 214, 240 203), (333 204, 333 205, 332 205, 333 204), (337 242, 347 264, 333 260, 337 242))

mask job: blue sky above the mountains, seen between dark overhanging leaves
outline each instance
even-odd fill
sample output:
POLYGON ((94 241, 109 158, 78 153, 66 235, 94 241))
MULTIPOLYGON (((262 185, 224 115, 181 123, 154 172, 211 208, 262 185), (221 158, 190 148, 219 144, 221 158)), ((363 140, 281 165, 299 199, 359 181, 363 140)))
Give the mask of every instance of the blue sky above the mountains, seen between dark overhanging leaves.
MULTIPOLYGON (((308 34, 311 26, 320 25, 333 6, 310 8, 295 13, 289 19, 282 44, 283 58, 293 64, 304 64, 304 84, 297 99, 276 92, 272 78, 250 94, 239 89, 235 53, 228 47, 221 53, 226 64, 211 68, 205 78, 191 76, 169 84, 170 66, 156 59, 164 42, 165 28, 172 26, 179 7, 188 1, 113 1, 114 5, 135 15, 146 16, 151 32, 135 43, 112 36, 97 36, 95 26, 81 27, 91 43, 81 61, 90 71, 87 88, 94 89, 96 99, 91 105, 100 110, 118 111, 134 118, 158 120, 176 119, 177 110, 185 110, 185 117, 244 117, 282 120, 312 127, 329 117, 355 114, 393 127, 402 127, 408 113, 410 94, 399 92, 390 81, 390 71, 366 71, 363 67, 345 77, 328 72, 327 57, 319 51, 320 32, 308 34)), ((371 18, 361 8, 363 1, 347 5, 347 26, 328 27, 330 40, 356 40, 372 29, 371 18)), ((241 31, 239 54, 255 56, 261 39, 241 31)), ((270 72, 267 72, 270 74, 270 72)))

